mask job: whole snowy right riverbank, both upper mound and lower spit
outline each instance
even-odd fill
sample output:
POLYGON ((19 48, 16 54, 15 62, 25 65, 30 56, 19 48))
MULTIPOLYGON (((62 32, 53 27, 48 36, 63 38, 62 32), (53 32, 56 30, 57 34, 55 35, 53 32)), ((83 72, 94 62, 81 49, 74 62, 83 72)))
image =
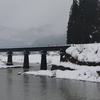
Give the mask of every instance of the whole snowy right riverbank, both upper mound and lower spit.
POLYGON ((24 74, 100 82, 100 44, 73 45, 66 50, 66 53, 71 56, 70 60, 66 56, 65 62, 59 62, 58 59, 55 59, 57 62, 53 61, 52 64, 68 70, 31 71, 24 74))

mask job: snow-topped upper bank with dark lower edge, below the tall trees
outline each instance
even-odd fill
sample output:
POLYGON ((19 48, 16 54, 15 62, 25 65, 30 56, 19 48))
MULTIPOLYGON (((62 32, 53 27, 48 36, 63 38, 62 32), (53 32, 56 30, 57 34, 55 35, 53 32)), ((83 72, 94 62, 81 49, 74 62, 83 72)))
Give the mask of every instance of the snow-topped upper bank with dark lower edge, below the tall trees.
POLYGON ((66 61, 77 65, 100 65, 100 43, 73 45, 66 49, 66 61))

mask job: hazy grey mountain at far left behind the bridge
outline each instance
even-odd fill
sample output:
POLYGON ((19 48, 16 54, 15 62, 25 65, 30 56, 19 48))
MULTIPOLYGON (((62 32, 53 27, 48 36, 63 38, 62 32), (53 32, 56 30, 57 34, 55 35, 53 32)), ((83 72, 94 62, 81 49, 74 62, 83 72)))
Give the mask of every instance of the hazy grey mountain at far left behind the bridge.
POLYGON ((0 26, 0 47, 18 46, 19 44, 19 46, 25 45, 22 40, 15 37, 20 32, 20 30, 0 26))

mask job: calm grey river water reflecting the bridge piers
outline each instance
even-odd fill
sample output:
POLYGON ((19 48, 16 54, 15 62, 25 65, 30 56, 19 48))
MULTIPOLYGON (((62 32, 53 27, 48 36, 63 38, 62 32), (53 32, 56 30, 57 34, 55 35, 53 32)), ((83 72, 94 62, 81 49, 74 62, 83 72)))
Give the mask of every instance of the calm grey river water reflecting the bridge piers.
POLYGON ((33 75, 22 68, 0 69, 0 100, 100 100, 100 84, 33 75))

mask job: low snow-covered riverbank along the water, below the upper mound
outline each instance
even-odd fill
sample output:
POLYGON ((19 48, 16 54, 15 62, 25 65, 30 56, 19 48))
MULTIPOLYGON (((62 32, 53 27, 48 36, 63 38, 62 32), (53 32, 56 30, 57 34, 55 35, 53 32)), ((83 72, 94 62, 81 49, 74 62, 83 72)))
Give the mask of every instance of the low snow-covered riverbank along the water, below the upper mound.
POLYGON ((90 82, 100 82, 100 76, 97 71, 100 71, 100 66, 79 66, 72 64, 70 62, 67 63, 57 63, 57 66, 64 66, 66 68, 71 68, 74 70, 47 70, 47 71, 29 71, 23 74, 30 74, 35 76, 48 76, 55 77, 61 79, 74 79, 80 81, 90 81, 90 82))

